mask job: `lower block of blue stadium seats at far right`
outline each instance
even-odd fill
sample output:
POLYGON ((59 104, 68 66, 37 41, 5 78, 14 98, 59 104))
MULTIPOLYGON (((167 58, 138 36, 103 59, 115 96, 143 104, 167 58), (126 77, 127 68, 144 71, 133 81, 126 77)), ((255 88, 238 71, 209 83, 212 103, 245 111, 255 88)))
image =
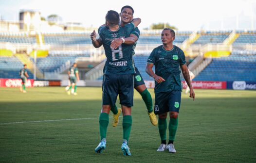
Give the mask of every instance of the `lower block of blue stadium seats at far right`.
POLYGON ((256 51, 233 51, 214 58, 194 81, 256 81, 256 51))

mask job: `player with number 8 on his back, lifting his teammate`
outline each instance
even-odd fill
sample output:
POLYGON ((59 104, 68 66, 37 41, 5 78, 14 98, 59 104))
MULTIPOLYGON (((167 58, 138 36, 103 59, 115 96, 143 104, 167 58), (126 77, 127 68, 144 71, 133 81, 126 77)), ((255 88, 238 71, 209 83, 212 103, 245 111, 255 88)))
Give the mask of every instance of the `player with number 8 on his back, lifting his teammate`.
POLYGON ((110 47, 111 42, 120 39, 125 42, 126 37, 136 28, 141 20, 137 18, 125 27, 119 27, 119 15, 115 11, 108 11, 106 25, 98 29, 99 38, 96 33, 91 33, 92 44, 95 48, 103 45, 107 57, 104 69, 102 110, 99 117, 101 141, 95 148, 95 152, 102 153, 106 148, 106 135, 109 124, 109 113, 111 106, 119 96, 123 112, 123 143, 121 149, 123 154, 130 156, 128 139, 130 136, 132 117, 131 107, 133 105, 133 74, 135 74, 132 61, 132 45, 122 44, 117 48, 110 47))

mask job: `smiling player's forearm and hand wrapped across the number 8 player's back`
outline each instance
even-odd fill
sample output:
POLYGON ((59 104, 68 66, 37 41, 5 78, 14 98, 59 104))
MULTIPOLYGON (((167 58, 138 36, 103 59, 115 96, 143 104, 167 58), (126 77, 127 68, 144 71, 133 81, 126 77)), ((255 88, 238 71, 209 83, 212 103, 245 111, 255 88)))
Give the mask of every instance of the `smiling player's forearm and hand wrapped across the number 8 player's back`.
POLYGON ((117 49, 121 44, 125 43, 128 45, 133 45, 138 40, 135 34, 130 34, 127 38, 117 38, 111 42, 110 48, 117 49))

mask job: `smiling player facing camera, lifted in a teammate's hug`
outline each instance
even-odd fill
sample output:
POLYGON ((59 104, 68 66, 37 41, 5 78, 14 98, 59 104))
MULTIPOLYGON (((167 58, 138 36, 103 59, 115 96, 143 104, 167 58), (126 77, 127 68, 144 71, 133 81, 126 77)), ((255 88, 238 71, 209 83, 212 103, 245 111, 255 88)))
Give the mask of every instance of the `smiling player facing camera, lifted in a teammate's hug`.
MULTIPOLYGON (((121 13, 119 14, 121 17, 121 23, 120 26, 124 27, 126 24, 130 23, 130 21, 133 19, 133 13, 134 10, 131 6, 124 6, 121 9, 121 13)), ((135 54, 134 49, 136 47, 136 41, 138 40, 140 36, 140 30, 138 29, 138 27, 136 27, 130 34, 130 38, 133 39, 128 39, 126 40, 125 38, 125 44, 129 44, 129 45, 133 45, 133 52, 132 55, 135 54)), ((113 46, 113 48, 116 48, 118 46, 120 46, 122 44, 122 40, 119 39, 115 39, 110 46, 113 46)), ((135 66, 135 65, 134 65, 135 66)), ((147 109, 147 114, 149 115, 149 119, 151 121, 151 123, 155 126, 157 125, 157 117, 153 112, 153 104, 152 104, 152 98, 150 93, 148 92, 147 88, 146 88, 146 84, 140 74, 140 71, 138 70, 138 68, 135 66, 135 72, 136 74, 134 75, 134 88, 136 89, 137 92, 140 93, 142 99, 144 100, 145 104, 146 104, 146 109, 147 109)), ((119 117, 119 108, 117 110, 116 105, 111 107, 111 111, 113 112, 113 127, 117 126, 118 123, 118 117, 119 117)))

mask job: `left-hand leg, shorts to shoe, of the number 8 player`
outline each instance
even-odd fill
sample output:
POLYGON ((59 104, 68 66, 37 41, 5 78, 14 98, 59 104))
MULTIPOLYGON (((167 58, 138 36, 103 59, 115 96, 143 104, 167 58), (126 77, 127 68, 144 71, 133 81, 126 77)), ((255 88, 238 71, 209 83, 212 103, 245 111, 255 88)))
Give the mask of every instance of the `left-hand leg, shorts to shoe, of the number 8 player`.
POLYGON ((99 117, 99 125, 100 125, 100 137, 101 142, 95 148, 95 152, 101 153, 106 147, 106 136, 107 129, 109 125, 109 113, 112 103, 116 102, 118 88, 116 86, 117 81, 116 76, 104 75, 103 79, 103 96, 102 96, 102 110, 99 117))

